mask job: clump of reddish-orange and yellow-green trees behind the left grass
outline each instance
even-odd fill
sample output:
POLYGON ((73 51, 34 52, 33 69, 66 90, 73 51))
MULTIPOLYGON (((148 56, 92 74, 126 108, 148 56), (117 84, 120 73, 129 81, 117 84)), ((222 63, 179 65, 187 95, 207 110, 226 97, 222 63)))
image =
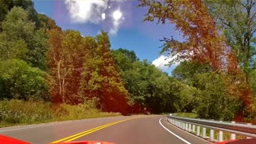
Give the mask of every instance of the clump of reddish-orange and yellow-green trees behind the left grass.
POLYGON ((53 102, 77 104, 98 98, 102 110, 127 110, 127 91, 113 59, 106 32, 82 38, 78 31, 50 31, 49 66, 53 102))

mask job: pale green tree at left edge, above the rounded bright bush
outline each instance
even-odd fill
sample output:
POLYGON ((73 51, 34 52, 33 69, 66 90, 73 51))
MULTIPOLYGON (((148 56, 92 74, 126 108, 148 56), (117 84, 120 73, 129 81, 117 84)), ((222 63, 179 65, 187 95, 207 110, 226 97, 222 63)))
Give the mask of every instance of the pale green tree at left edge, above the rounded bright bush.
POLYGON ((22 8, 14 7, 2 22, 0 38, 1 59, 26 59, 28 51, 27 41, 33 38, 34 23, 29 22, 27 13, 22 8))

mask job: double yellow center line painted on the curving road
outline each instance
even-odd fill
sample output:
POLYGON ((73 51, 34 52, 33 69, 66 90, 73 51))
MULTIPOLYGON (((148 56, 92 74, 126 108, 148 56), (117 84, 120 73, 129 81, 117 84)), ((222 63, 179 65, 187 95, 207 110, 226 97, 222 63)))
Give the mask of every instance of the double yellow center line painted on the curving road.
MULTIPOLYGON (((142 117, 136 117, 136 118, 142 118, 142 117)), ((126 122, 126 121, 136 119, 136 118, 129 118, 129 119, 121 120, 121 121, 118 121, 118 122, 112 122, 112 123, 109 123, 109 124, 106 124, 106 125, 103 125, 103 126, 98 126, 98 127, 95 127, 94 129, 86 130, 86 131, 83 131, 81 133, 74 134, 74 135, 71 135, 69 137, 62 138, 62 139, 59 139, 58 141, 54 141, 54 142, 50 142, 50 143, 54 144, 54 143, 58 143, 58 142, 71 142, 71 141, 73 141, 75 139, 78 139, 78 138, 81 138, 81 137, 83 137, 87 134, 93 133, 93 132, 98 131, 98 130, 102 130, 102 129, 108 127, 108 126, 113 126, 113 125, 116 125, 118 123, 126 122)))

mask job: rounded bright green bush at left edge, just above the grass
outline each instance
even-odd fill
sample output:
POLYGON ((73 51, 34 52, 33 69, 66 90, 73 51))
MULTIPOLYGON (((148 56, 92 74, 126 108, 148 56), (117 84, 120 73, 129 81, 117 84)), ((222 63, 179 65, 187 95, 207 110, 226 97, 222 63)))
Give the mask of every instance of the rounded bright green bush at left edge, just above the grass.
POLYGON ((47 99, 47 74, 22 60, 0 62, 0 99, 47 99))

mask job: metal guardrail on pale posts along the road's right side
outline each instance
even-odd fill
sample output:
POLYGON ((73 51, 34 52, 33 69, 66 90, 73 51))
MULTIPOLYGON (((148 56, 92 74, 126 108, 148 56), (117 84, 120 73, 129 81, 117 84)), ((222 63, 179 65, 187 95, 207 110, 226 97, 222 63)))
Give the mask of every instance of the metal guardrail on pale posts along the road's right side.
POLYGON ((246 138, 256 138, 256 126, 250 123, 242 124, 197 118, 181 118, 172 114, 168 115, 167 118, 168 122, 174 126, 178 126, 182 130, 194 133, 202 138, 206 138, 206 129, 210 129, 210 141, 212 142, 214 142, 214 130, 218 130, 218 142, 223 142, 223 132, 229 132, 230 139, 235 139, 236 134, 246 136, 246 138), (200 134, 201 130, 202 134, 200 134))

